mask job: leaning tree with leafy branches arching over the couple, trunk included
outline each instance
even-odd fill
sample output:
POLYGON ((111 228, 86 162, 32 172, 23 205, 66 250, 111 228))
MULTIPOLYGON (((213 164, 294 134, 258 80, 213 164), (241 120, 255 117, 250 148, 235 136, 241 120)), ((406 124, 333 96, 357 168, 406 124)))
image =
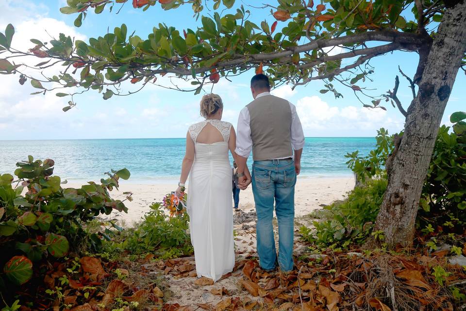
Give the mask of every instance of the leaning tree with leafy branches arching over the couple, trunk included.
MULTIPOLYGON (((382 100, 396 104, 406 116, 406 125, 388 159, 389 185, 376 227, 385 232, 389 245, 410 244, 438 126, 458 69, 466 72, 466 1, 323 0, 315 5, 313 0, 277 0, 276 7, 262 6, 276 19, 272 25, 250 21, 251 13, 242 5, 234 14, 220 16, 220 6, 231 9, 234 2, 204 1, 206 5, 213 3, 210 18, 200 17, 201 0, 133 0, 134 9, 143 10, 159 4, 165 10, 191 4, 200 26, 179 31, 159 24, 144 40, 134 33, 128 36, 122 24, 113 33, 90 38, 88 43, 63 34, 47 45, 32 39, 35 46, 28 52, 12 47, 14 28, 9 25, 0 35, 0 49, 7 55, 0 60, 0 72, 21 73, 21 64, 10 60, 28 55, 44 58, 34 67, 36 71, 62 65, 59 75, 47 79, 21 73, 19 83, 31 80, 39 89, 36 93, 68 89, 68 93, 57 93, 72 96, 65 111, 75 105, 73 95, 83 91, 98 90, 104 99, 127 95, 121 89, 126 80, 142 88, 156 84, 159 76, 173 74, 191 81, 197 94, 221 78, 252 68, 264 71, 276 86, 288 83, 295 87, 320 79, 326 82, 321 92, 331 91, 338 98, 341 94, 333 85, 336 81, 350 87, 358 98, 371 101, 364 104, 367 107, 386 109, 382 100), (411 18, 414 20, 407 20, 411 18), (278 23, 285 21, 277 29, 278 23), (397 97, 398 77, 393 91, 381 96, 372 96, 357 85, 373 72, 370 59, 397 50, 419 54, 412 79, 400 69, 413 90, 414 99, 407 110, 397 97), (343 59, 351 64, 342 66, 343 59)), ((127 3, 130 1, 67 0, 61 12, 77 14, 75 25, 79 27, 91 9, 100 14, 106 7, 111 11, 115 5, 127 3)))

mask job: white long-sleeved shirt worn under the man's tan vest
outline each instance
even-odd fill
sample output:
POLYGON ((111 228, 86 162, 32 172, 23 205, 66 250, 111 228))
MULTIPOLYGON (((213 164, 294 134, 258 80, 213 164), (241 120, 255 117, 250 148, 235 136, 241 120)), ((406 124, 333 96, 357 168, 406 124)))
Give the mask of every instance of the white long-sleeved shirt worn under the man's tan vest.
MULTIPOLYGON (((269 92, 260 93, 256 96, 257 98, 263 96, 270 96, 269 92)), ((304 133, 302 131, 301 121, 296 113, 296 107, 294 104, 290 104, 291 108, 291 145, 294 150, 300 150, 304 146, 304 133)), ((244 107, 239 113, 238 126, 236 128, 236 149, 237 155, 242 157, 249 157, 252 150, 252 138, 251 138, 251 127, 250 127, 250 114, 248 107, 244 107)), ((293 155, 290 155, 293 156, 293 155)), ((272 160, 272 159, 271 159, 272 160)))

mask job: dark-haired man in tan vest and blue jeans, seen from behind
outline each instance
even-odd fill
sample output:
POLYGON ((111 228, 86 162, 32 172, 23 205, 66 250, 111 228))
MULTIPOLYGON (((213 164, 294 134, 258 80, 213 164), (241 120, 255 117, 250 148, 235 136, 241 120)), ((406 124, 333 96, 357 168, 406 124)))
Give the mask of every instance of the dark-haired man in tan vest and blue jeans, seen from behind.
POLYGON ((257 253, 264 270, 293 269, 296 175, 301 169, 304 134, 296 107, 270 94, 268 78, 251 79, 254 100, 239 114, 236 134, 237 174, 242 188, 252 181, 257 211, 257 253), (252 149, 252 177, 244 175, 252 149), (275 250, 272 218, 278 219, 279 253, 275 250))

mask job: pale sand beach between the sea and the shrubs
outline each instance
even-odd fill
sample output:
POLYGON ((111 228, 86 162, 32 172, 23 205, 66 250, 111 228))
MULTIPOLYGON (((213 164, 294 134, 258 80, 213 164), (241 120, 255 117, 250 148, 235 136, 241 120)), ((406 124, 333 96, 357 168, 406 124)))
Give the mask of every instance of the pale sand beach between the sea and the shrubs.
MULTIPOLYGON (((82 184, 68 183, 64 187, 81 187, 82 184)), ((128 213, 114 212, 111 219, 123 221, 125 225, 132 225, 140 221, 144 213, 150 211, 150 204, 161 202, 163 197, 176 189, 176 184, 133 184, 120 181, 120 188, 113 190, 111 195, 115 199, 123 200, 125 191, 133 192, 133 202, 126 201, 128 213)), ((345 193, 354 187, 353 177, 299 177, 296 183, 295 215, 306 215, 320 205, 329 204, 334 200, 341 200, 345 193)), ((189 185, 187 191, 189 195, 189 185)), ((233 196, 232 196, 233 200, 233 196)), ((254 210, 254 198, 251 187, 240 192, 239 208, 244 212, 254 210)))

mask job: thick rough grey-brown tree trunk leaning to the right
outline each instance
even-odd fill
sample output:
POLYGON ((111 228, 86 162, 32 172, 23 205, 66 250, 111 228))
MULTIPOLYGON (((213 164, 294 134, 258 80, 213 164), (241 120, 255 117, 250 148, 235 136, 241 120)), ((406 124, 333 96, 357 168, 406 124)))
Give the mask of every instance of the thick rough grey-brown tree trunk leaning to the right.
POLYGON ((388 187, 375 230, 383 230, 389 247, 413 243, 422 186, 445 106, 466 50, 466 0, 456 2, 439 25, 419 91, 408 109, 404 134, 387 160, 388 187))

